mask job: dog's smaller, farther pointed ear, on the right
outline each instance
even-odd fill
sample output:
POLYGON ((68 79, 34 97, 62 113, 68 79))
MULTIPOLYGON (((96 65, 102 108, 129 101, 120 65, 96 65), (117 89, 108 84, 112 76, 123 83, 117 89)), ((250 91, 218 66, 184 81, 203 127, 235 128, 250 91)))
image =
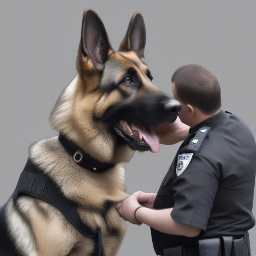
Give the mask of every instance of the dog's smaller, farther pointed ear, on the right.
POLYGON ((144 58, 146 44, 146 28, 141 12, 135 12, 131 17, 125 37, 119 46, 119 51, 134 51, 139 58, 144 58))

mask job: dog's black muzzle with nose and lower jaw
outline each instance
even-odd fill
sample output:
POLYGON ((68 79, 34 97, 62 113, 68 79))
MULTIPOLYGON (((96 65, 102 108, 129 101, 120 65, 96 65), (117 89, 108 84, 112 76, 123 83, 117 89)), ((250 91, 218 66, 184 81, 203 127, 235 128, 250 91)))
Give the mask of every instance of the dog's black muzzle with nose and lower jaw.
MULTIPOLYGON (((117 134, 118 139, 128 144, 131 149, 148 151, 152 150, 152 145, 153 147, 157 145, 155 144, 156 135, 149 126, 174 122, 180 108, 180 103, 166 94, 142 93, 110 106, 100 121, 108 125, 109 130, 117 134), (126 128, 121 125, 121 122, 122 124, 126 123, 129 127, 128 130, 125 131, 126 128), (154 143, 149 145, 145 141, 145 137, 134 136, 131 131, 131 126, 134 124, 137 128, 140 127, 139 129, 146 131, 144 134, 151 134, 154 143)), ((158 146, 155 146, 152 152, 157 152, 157 148, 158 146)))

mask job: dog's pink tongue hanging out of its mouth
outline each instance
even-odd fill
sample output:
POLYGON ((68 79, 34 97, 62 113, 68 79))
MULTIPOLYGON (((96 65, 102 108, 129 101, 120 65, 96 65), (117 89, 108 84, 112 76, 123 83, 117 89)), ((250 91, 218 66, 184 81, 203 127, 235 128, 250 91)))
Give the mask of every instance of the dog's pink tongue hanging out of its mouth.
MULTIPOLYGON (((131 129, 137 131, 139 135, 143 136, 143 139, 151 147, 151 152, 157 153, 160 150, 160 144, 157 135, 150 128, 148 130, 143 125, 136 125, 131 123, 131 129)), ((138 136, 139 136, 138 135, 138 136)))

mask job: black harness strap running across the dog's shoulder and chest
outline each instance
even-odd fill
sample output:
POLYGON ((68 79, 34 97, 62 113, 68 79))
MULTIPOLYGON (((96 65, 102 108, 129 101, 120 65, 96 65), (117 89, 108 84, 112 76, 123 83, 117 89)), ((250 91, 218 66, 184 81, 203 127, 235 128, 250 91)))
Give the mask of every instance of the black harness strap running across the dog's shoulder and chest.
POLYGON ((83 236, 93 239, 96 243, 95 256, 105 256, 102 247, 101 229, 98 227, 97 232, 93 232, 86 224, 84 224, 77 212, 77 204, 66 198, 59 186, 46 174, 44 174, 39 166, 28 158, 23 172, 20 174, 15 191, 12 194, 14 201, 20 194, 31 195, 35 198, 46 201, 47 203, 59 209, 70 223, 83 236))

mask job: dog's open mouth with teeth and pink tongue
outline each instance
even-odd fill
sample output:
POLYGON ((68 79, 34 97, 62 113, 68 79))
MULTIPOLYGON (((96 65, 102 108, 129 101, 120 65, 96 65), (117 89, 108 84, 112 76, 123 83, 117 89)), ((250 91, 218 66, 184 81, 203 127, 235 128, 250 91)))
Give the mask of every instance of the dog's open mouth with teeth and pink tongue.
POLYGON ((150 150, 153 153, 157 153, 160 150, 160 144, 157 135, 148 126, 137 125, 133 122, 128 122, 121 119, 115 126, 116 132, 119 136, 125 140, 133 140, 136 146, 141 150, 150 150))

